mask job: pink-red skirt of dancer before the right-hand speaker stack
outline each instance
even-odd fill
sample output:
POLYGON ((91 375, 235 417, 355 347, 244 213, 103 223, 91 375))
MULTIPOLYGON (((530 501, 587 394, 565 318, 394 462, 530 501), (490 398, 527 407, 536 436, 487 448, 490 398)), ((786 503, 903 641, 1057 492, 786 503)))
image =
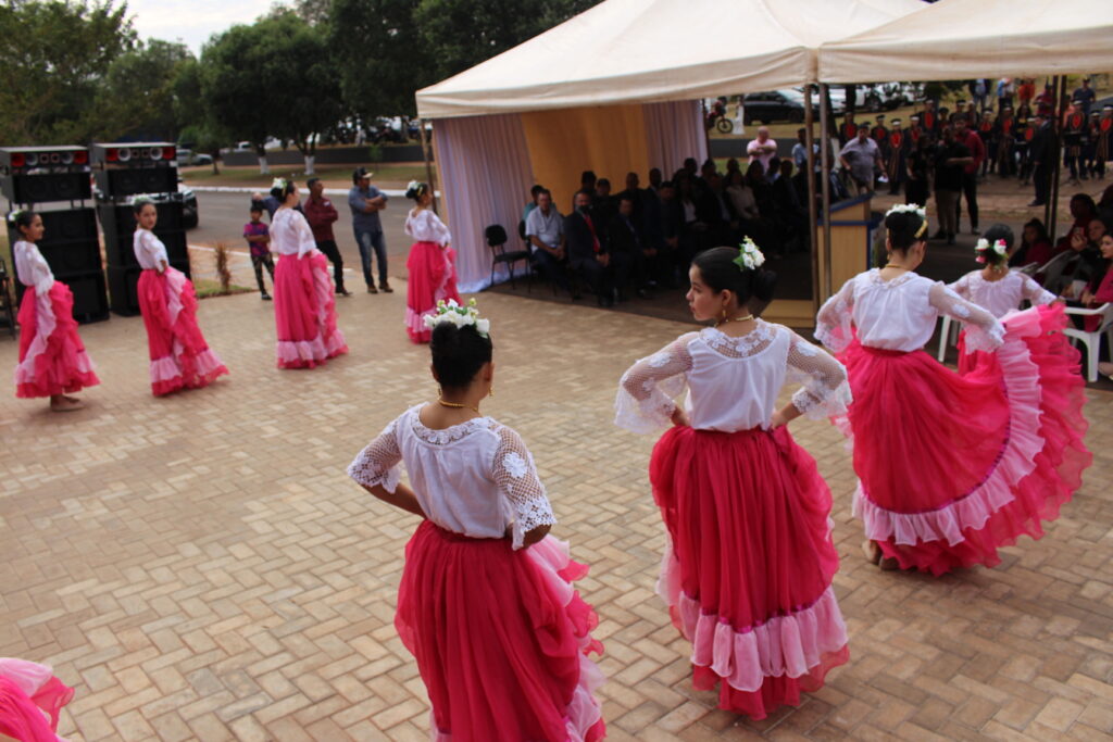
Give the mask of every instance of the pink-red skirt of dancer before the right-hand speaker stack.
POLYGON ((147 327, 150 390, 156 397, 199 389, 228 373, 197 326, 197 295, 180 270, 139 274, 139 310, 147 327))

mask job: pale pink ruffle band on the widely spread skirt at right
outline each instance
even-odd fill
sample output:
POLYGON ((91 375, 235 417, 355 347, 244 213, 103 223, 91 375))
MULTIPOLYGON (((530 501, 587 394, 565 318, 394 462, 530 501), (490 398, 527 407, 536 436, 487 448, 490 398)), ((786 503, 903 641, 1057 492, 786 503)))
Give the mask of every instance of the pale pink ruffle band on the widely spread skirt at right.
MULTIPOLYGON (((963 531, 981 530, 989 517, 1015 499, 1014 488, 1035 468, 1035 456, 1044 447, 1040 435, 1040 369, 1024 337, 1041 332, 1035 310, 1005 319, 1009 330, 996 356, 1008 404, 1008 438, 985 479, 973 491, 933 511, 897 513, 869 498, 861 482, 854 493, 854 515, 861 518, 873 541, 894 541, 913 546, 917 542, 946 541, 954 546, 965 540, 963 531)), ((947 372, 951 373, 951 372, 947 372)))

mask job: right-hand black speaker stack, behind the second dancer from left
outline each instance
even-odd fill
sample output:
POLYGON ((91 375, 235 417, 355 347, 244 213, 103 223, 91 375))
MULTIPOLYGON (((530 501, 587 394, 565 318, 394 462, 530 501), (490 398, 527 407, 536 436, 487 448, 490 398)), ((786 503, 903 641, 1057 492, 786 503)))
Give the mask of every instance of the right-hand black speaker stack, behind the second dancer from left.
POLYGON ((170 265, 189 275, 177 148, 158 141, 95 144, 90 159, 97 181, 97 216, 105 233, 112 311, 135 315, 139 313, 137 285, 142 270, 132 249, 136 219, 131 204, 137 196, 146 196, 155 204, 155 236, 166 245, 170 265))

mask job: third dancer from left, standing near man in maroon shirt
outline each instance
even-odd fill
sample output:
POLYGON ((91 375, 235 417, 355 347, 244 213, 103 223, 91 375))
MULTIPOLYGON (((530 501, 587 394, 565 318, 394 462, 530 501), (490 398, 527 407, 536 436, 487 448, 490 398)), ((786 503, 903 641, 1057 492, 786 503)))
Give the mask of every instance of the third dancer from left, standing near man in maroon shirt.
POLYGON ((275 178, 270 195, 280 202, 270 218, 270 244, 282 256, 274 278, 278 368, 313 368, 347 353, 336 326, 328 260, 317 249, 309 222, 294 208, 297 185, 275 178))

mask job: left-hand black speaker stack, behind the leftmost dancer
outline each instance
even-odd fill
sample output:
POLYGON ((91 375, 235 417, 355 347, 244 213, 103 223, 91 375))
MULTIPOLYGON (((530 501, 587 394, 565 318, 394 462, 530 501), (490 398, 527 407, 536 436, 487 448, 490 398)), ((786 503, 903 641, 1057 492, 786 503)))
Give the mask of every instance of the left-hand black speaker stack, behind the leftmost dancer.
MULTIPOLYGON (((85 205, 92 195, 89 150, 0 148, 0 190, 13 209, 33 208, 42 217, 43 235, 38 248, 55 278, 73 293, 73 318, 79 323, 107 319, 108 295, 97 217, 85 205)), ((20 238, 19 230, 9 222, 9 244, 20 238)), ((23 286, 18 280, 16 294, 22 300, 23 286)))

